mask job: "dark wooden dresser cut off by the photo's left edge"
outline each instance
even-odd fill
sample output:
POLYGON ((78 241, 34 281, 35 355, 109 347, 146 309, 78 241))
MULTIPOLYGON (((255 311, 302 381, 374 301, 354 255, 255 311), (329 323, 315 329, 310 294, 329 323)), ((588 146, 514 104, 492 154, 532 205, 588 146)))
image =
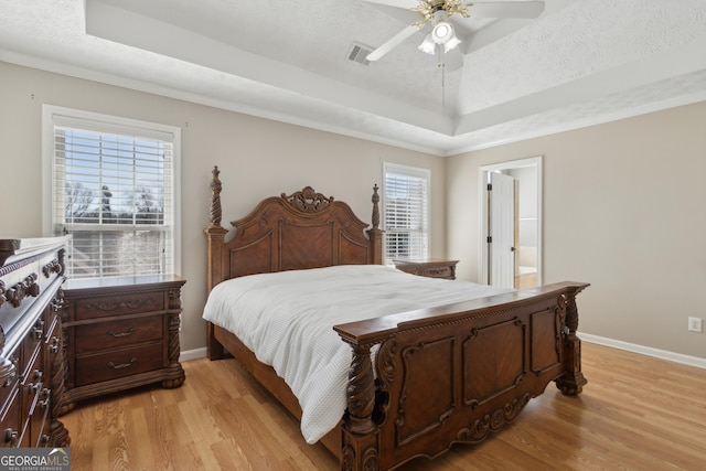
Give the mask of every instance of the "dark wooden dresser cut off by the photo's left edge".
POLYGON ((0 441, 67 447, 61 286, 67 237, 0 239, 0 441))

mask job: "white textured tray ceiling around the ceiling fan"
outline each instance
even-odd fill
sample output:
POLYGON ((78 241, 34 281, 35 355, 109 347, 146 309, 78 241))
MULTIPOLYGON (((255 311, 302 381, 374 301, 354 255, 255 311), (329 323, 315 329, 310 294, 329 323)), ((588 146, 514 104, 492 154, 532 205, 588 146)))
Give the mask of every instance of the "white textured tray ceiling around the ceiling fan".
POLYGON ((545 3, 442 69, 362 0, 0 0, 0 60, 441 156, 706 99, 706 0, 545 3))

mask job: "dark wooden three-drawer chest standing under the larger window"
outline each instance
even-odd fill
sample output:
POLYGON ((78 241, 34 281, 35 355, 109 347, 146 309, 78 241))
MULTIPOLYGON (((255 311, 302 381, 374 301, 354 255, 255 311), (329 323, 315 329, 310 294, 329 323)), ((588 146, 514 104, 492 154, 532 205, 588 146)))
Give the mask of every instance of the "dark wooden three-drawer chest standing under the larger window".
POLYGON ((62 311, 66 382, 61 414, 76 402, 160 383, 179 387, 181 288, 175 276, 68 280, 62 311))

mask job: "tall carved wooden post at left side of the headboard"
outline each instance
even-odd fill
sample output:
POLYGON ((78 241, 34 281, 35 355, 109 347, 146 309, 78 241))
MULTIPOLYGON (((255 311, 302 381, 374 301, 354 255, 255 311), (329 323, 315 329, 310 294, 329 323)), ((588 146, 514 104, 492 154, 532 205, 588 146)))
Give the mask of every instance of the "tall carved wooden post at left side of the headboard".
MULTIPOLYGON (((218 174, 221 171, 218 167, 213 168, 213 179, 211 180, 211 208, 208 216, 211 225, 203 232, 206 234, 207 240, 207 271, 206 271, 206 285, 207 291, 223 281, 223 243, 227 229, 221 226, 221 179, 218 174)), ((206 332, 206 349, 208 351, 210 360, 218 360, 223 357, 223 345, 215 339, 213 324, 207 323, 206 332)))

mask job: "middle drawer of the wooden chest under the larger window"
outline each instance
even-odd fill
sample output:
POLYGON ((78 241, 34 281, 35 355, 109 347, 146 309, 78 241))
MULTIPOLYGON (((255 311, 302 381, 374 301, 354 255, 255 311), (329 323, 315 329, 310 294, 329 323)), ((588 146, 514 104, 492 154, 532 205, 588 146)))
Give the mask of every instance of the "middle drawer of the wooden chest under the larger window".
POLYGON ((99 352, 161 340, 163 338, 163 315, 120 319, 97 324, 76 325, 74 330, 74 353, 99 352))

